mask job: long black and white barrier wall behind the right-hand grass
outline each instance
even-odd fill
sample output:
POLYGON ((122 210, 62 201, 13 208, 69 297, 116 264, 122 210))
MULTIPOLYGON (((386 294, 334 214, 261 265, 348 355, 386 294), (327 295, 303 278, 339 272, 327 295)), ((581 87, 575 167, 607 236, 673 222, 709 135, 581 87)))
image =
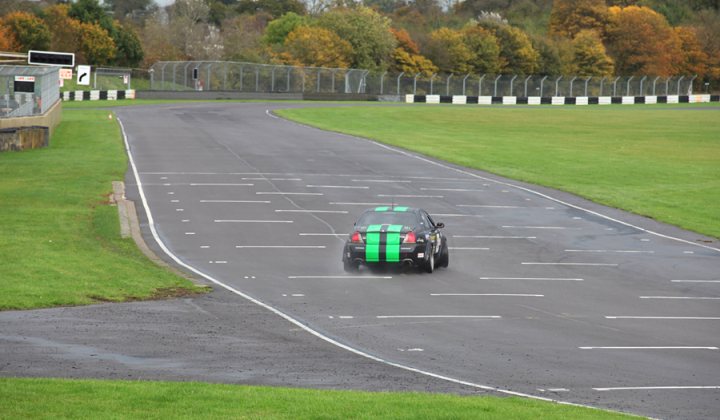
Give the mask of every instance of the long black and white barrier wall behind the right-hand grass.
POLYGON ((428 104, 479 105, 634 105, 720 102, 720 95, 667 96, 464 96, 464 95, 405 95, 405 102, 428 104))

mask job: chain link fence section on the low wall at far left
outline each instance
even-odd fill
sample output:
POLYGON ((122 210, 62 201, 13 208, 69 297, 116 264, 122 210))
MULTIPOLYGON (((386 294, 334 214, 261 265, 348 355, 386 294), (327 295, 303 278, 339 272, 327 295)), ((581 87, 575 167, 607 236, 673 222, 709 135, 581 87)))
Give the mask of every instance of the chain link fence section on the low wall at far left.
POLYGON ((0 66, 0 118, 45 114, 58 100, 57 67, 0 66))

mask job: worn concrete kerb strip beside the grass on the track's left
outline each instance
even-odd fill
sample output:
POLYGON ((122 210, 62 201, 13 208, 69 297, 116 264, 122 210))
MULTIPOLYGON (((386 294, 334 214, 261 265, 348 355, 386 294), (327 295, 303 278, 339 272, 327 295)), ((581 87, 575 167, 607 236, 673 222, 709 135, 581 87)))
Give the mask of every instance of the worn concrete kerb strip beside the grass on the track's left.
POLYGON ((113 181, 113 192, 110 194, 110 205, 117 206, 118 218, 120 219, 120 236, 122 238, 132 237, 137 247, 142 253, 153 263, 170 270, 172 273, 186 278, 196 285, 209 286, 210 283, 202 281, 195 276, 178 270, 176 267, 166 263, 162 258, 148 247, 145 239, 140 232, 140 221, 138 220, 135 202, 125 197, 125 183, 122 181, 113 181))

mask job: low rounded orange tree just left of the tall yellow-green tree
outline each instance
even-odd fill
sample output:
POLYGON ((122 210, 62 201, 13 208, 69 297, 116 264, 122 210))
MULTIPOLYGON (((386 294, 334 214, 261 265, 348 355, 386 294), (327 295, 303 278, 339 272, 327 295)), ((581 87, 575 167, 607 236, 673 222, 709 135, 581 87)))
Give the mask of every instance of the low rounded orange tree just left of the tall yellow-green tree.
POLYGON ((286 54, 280 58, 286 60, 285 64, 347 68, 352 57, 352 46, 325 28, 300 26, 288 34, 284 52, 286 54))

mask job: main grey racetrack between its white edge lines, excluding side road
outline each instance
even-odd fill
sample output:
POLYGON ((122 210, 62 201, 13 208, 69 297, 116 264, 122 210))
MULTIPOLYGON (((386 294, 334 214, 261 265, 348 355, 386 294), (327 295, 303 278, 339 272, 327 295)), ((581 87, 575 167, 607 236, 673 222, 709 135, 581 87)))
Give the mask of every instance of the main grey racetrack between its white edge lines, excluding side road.
POLYGON ((302 105, 117 111, 149 226, 186 269, 378 363, 652 417, 720 412, 720 250, 276 106, 302 105), (445 223, 448 268, 343 271, 353 222, 393 204, 445 223))

